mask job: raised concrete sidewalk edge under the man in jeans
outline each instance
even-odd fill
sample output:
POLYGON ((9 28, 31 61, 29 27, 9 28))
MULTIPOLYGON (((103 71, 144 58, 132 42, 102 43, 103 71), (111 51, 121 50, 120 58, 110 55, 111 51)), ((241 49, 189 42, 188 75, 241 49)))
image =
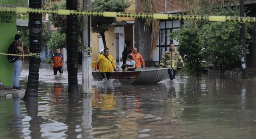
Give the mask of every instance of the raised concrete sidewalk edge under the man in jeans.
POLYGON ((23 98, 25 95, 25 91, 15 91, 12 90, 11 86, 4 86, 3 90, 0 90, 0 97, 4 98, 13 98, 13 97, 21 97, 23 98))

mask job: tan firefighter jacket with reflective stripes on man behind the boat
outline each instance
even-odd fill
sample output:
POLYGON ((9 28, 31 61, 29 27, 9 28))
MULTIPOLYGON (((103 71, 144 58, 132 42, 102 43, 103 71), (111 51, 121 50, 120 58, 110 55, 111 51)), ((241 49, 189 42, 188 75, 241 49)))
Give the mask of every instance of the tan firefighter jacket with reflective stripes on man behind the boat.
POLYGON ((177 52, 175 49, 174 51, 171 51, 170 49, 163 53, 163 56, 160 61, 160 66, 163 66, 163 62, 166 63, 166 67, 173 68, 174 70, 177 69, 177 59, 184 64, 182 57, 180 56, 179 52, 177 52))

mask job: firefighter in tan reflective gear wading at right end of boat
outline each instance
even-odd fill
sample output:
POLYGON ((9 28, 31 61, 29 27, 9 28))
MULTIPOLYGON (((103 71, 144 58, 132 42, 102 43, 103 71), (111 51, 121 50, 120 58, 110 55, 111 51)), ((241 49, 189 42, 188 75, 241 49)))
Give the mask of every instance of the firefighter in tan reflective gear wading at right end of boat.
POLYGON ((170 49, 163 53, 163 56, 161 58, 159 67, 162 68, 163 62, 166 63, 166 67, 169 67, 168 74, 170 77, 170 80, 175 79, 176 75, 176 69, 177 69, 177 59, 181 62, 182 67, 184 67, 184 62, 182 60, 182 57, 180 56, 179 52, 174 49, 174 44, 170 44, 170 49))

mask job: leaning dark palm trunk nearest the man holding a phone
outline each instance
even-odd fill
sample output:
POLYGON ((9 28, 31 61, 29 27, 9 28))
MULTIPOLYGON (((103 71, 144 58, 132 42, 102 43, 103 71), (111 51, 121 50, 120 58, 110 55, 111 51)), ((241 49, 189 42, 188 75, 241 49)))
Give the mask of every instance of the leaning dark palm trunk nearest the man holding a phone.
MULTIPOLYGON (((41 8, 41 0, 30 0, 30 8, 41 8)), ((29 13, 29 46, 31 53, 41 52, 42 40, 42 15, 29 13)), ((40 57, 29 58, 29 74, 27 89, 25 92, 24 100, 34 100, 38 97, 38 78, 40 57)))

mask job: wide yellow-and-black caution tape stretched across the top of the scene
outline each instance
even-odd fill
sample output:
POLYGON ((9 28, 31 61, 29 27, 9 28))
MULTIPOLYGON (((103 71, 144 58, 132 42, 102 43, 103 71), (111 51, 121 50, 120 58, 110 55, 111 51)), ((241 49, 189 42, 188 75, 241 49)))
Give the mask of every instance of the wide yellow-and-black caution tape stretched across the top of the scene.
POLYGON ((58 15, 89 15, 103 17, 133 17, 133 18, 153 18, 153 19, 176 19, 176 20, 206 20, 206 21, 237 21, 237 22, 256 22, 256 17, 237 17, 237 16, 193 16, 193 15, 177 15, 177 14, 140 14, 140 13, 121 13, 121 12, 87 12, 67 9, 37 9, 25 7, 3 7, 0 6, 0 12, 16 12, 16 13, 48 13, 58 15))

